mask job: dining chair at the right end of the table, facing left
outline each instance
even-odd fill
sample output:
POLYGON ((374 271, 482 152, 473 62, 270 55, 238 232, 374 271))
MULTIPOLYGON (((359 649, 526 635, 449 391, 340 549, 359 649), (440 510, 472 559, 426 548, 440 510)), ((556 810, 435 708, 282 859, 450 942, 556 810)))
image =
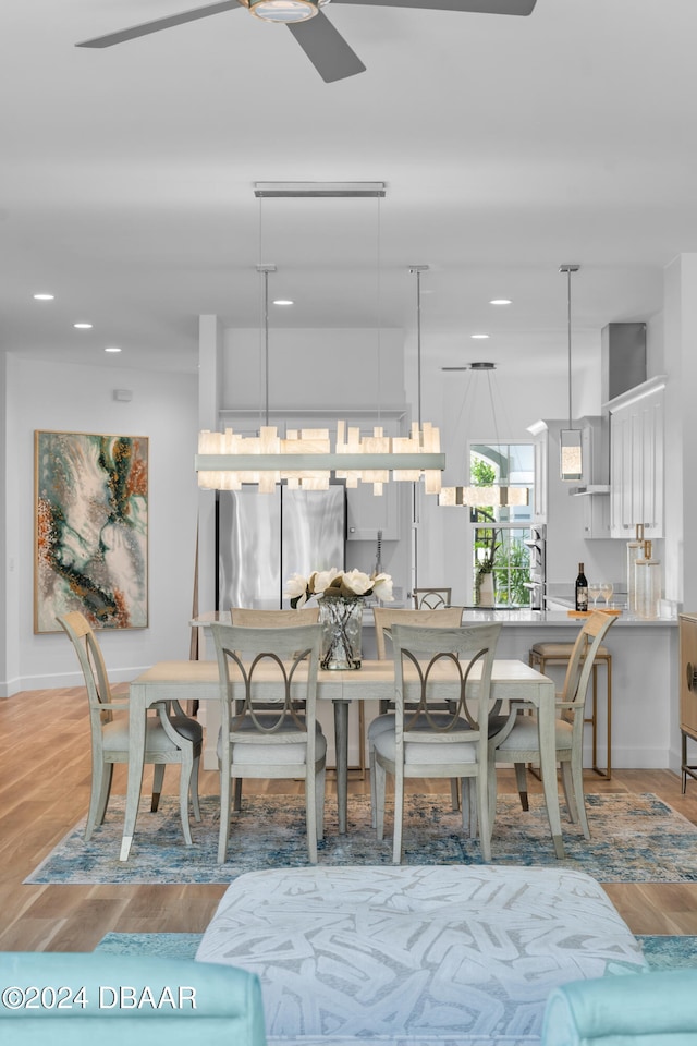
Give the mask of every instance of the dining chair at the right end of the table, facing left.
MULTIPOLYGON (((584 716, 588 682, 602 640, 616 616, 596 610, 584 621, 574 643, 562 690, 557 694, 554 722, 554 747, 561 766, 562 784, 570 819, 580 822, 584 836, 590 839, 586 816, 583 777, 584 716)), ((496 765, 506 763, 515 766, 515 780, 523 810, 528 810, 526 764, 539 765, 539 735, 537 715, 522 713, 512 704, 508 723, 491 739, 492 777, 496 765)), ((490 796, 492 819, 496 808, 496 791, 490 796)))

